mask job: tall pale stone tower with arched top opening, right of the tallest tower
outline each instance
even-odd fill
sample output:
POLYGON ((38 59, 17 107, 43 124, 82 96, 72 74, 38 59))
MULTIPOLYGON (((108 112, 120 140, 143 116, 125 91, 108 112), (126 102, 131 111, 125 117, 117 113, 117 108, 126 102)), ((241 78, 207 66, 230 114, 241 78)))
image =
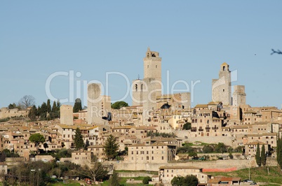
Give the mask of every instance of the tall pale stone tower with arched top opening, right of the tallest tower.
POLYGON ((220 66, 219 78, 213 79, 212 100, 231 106, 231 71, 225 62, 220 66))

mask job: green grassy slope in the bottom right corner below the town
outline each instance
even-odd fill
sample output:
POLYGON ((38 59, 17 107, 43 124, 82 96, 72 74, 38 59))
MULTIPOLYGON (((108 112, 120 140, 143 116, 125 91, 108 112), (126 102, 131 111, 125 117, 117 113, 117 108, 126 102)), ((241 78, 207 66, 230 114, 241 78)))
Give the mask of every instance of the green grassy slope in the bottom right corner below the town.
MULTIPOLYGON (((212 176, 239 177, 241 180, 249 178, 249 169, 241 169, 228 173, 208 173, 212 176)), ((250 169, 250 180, 256 183, 276 183, 282 184, 282 171, 278 167, 269 167, 269 173, 265 167, 250 169)))

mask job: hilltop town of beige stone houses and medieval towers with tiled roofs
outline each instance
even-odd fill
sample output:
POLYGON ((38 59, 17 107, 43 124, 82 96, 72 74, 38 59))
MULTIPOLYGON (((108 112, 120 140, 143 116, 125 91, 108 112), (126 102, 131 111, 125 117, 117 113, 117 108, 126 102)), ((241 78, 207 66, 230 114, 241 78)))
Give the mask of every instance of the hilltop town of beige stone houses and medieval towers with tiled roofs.
MULTIPOLYGON (((111 96, 101 94, 100 84, 90 83, 87 108, 74 113, 72 105, 62 105, 60 117, 53 120, 30 121, 32 108, 1 108, 0 151, 18 154, 18 162, 48 162, 55 158, 46 152, 72 150, 71 157, 56 161, 88 166, 94 155, 110 174, 156 171, 151 183, 164 185, 187 175, 196 176, 199 185, 239 185, 240 178, 214 178, 208 172, 256 167, 257 148, 265 149, 264 166, 278 166, 282 110, 248 105, 244 85, 234 85, 231 92, 229 64, 219 64, 218 78, 210 80, 210 102, 192 108, 191 92, 163 94, 159 52, 148 48, 143 62, 144 78, 132 81, 131 106, 112 108, 111 96), (22 119, 13 120, 17 117, 22 119), (81 149, 74 141, 78 129, 86 144, 81 149), (43 143, 29 141, 34 134, 41 134, 43 143), (119 157, 109 158, 105 143, 112 136, 119 144, 119 157)), ((2 159, 4 175, 9 175, 13 161, 2 159)))

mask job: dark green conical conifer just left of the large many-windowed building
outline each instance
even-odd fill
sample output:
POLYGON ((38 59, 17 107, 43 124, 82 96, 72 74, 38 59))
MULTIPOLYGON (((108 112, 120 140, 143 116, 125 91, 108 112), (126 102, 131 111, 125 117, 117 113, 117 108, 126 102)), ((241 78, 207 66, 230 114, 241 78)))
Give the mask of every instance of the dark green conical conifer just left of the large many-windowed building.
POLYGON ((104 145, 104 152, 107 158, 110 160, 114 159, 119 154, 118 150, 119 143, 116 141, 116 138, 112 136, 112 134, 109 135, 104 145))

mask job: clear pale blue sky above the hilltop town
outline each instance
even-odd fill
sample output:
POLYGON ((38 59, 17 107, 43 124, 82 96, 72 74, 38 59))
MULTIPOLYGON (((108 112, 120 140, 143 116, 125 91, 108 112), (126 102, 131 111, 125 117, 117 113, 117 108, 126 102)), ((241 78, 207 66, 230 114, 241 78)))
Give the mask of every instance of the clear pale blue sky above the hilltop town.
MULTIPOLYGON (((211 101, 211 81, 227 62, 235 71, 233 85, 246 85, 250 106, 281 108, 282 55, 270 55, 271 48, 282 50, 281 7, 275 0, 2 0, 0 107, 25 95, 41 105, 48 99, 48 77, 56 99, 83 99, 83 82, 90 80, 108 87, 113 101, 122 99, 126 79, 143 78, 149 46, 162 57, 165 93, 177 80, 190 91, 191 81, 201 81, 192 106, 211 101), (114 73, 109 83, 107 72, 114 73)), ((125 101, 131 104, 130 96, 125 101)))

